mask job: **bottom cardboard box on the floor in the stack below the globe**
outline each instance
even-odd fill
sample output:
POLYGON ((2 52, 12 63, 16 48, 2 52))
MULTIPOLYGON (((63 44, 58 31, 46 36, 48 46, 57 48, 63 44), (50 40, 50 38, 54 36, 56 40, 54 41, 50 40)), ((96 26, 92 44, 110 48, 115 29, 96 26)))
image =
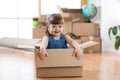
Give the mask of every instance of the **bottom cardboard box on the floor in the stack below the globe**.
POLYGON ((101 38, 100 37, 81 37, 81 43, 85 43, 88 41, 95 41, 98 42, 99 44, 91 47, 87 47, 84 49, 85 53, 100 53, 101 52, 101 38))

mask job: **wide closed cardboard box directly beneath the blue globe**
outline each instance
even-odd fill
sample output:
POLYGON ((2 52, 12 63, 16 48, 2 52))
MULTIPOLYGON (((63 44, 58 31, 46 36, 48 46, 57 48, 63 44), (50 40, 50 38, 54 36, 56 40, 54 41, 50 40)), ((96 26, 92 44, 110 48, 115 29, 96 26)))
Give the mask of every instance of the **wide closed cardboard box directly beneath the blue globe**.
POLYGON ((73 23, 72 32, 78 36, 100 36, 99 24, 73 23))

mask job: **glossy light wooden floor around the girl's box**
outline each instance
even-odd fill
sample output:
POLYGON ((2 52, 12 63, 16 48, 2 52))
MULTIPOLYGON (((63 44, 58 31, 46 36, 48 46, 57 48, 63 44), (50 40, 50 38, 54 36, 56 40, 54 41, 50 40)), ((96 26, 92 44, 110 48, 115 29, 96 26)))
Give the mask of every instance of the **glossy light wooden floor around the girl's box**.
POLYGON ((120 80, 120 54, 84 54, 83 77, 36 78, 33 53, 0 49, 0 80, 120 80))

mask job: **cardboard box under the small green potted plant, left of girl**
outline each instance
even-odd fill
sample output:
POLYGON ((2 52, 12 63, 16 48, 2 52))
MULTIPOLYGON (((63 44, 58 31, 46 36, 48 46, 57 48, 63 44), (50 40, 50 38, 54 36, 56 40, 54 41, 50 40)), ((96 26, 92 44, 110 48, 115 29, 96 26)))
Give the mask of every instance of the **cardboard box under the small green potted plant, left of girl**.
POLYGON ((33 38, 42 38, 45 36, 45 28, 33 28, 33 38))

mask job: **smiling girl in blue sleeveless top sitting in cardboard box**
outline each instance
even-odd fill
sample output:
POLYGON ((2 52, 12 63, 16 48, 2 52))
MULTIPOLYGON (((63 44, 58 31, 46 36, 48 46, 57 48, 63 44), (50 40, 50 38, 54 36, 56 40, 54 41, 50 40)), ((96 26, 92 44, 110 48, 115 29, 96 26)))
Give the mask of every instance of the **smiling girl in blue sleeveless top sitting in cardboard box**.
POLYGON ((70 36, 63 34, 64 20, 60 14, 51 14, 46 21, 46 36, 40 45, 39 57, 44 60, 48 56, 46 49, 68 48, 67 43, 74 48, 73 56, 78 60, 82 54, 79 44, 70 36))

